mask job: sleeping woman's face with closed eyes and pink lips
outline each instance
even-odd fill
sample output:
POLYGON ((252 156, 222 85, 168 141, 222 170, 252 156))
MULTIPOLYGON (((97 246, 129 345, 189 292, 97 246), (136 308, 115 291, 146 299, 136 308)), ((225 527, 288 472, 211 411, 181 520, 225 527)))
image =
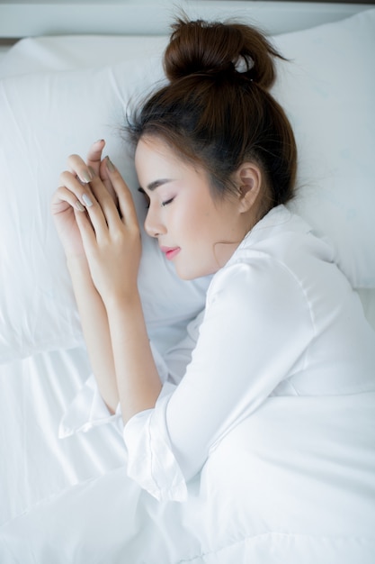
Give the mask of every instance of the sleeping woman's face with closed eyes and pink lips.
POLYGON ((157 138, 138 142, 135 163, 149 204, 146 232, 177 275, 190 280, 223 267, 247 231, 237 196, 214 199, 207 174, 157 138))

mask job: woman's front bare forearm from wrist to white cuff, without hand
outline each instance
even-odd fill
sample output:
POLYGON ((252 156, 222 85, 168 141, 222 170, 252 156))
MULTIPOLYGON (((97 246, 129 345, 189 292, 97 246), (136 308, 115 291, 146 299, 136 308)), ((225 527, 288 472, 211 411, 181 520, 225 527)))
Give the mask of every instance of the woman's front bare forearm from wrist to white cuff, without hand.
POLYGON ((150 349, 138 292, 106 304, 124 423, 153 408, 161 381, 150 349))

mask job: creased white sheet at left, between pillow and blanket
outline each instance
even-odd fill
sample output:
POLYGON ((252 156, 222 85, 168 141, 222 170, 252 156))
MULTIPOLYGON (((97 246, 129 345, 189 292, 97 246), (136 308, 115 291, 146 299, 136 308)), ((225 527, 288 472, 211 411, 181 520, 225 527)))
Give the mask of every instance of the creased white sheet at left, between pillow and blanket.
POLYGON ((110 425, 58 439, 61 416, 89 371, 84 349, 0 365, 1 524, 40 499, 123 465, 122 437, 110 425))

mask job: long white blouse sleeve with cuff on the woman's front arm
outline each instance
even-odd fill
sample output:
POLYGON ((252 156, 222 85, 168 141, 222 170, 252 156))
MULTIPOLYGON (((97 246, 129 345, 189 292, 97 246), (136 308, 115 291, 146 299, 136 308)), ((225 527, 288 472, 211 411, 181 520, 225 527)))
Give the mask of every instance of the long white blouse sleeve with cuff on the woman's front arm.
POLYGON ((313 337, 308 301, 287 268, 267 258, 224 268, 181 383, 125 426, 129 476, 158 499, 183 500, 218 441, 303 369, 313 337))

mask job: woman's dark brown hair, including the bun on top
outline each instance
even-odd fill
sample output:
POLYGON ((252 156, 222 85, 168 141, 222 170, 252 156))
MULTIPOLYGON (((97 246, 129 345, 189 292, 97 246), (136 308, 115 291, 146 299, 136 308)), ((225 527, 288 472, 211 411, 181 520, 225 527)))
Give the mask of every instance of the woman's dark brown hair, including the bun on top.
POLYGON ((137 144, 156 136, 210 176, 214 194, 235 186, 246 161, 266 178, 267 205, 293 196, 297 150, 290 123, 269 92, 273 59, 281 55, 263 34, 242 23, 178 20, 165 50, 169 80, 129 120, 137 144))

